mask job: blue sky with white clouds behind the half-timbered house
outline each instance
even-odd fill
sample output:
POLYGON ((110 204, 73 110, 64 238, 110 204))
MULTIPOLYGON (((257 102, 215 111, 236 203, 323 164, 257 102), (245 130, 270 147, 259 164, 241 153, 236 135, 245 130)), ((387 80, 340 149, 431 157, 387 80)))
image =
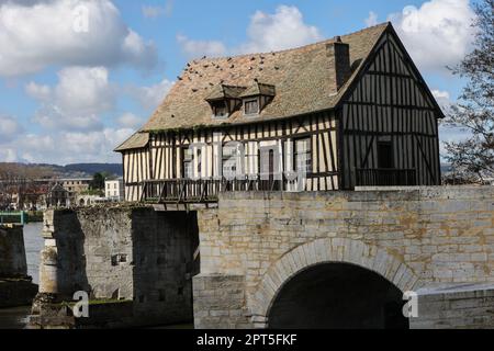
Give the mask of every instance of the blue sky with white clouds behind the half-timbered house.
MULTIPOLYGON (((391 21, 440 105, 463 81, 469 0, 0 0, 0 161, 119 162, 187 61, 391 21)), ((442 140, 462 137, 444 129, 442 140)))

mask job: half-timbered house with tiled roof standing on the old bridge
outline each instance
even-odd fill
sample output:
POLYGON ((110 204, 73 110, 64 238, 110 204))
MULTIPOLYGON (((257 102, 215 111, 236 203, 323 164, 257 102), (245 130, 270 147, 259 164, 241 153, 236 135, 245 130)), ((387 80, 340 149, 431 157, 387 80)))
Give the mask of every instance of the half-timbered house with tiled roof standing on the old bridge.
POLYGON ((193 60, 116 151, 127 201, 436 185, 441 117, 385 23, 283 52, 193 60), (235 179, 218 162, 232 157, 235 179), (294 186, 287 174, 301 169, 294 186))

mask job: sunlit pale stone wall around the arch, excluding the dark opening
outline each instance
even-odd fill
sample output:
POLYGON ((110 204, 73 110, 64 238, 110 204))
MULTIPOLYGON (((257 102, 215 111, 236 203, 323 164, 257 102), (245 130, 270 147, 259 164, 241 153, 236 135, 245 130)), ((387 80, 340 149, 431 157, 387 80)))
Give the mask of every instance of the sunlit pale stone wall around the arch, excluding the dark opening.
MULTIPOLYGON (((244 324, 266 327, 281 286, 307 267, 348 262, 403 292, 494 282, 494 188, 420 188, 329 193, 229 193, 199 214, 201 275, 232 276, 244 324), (242 285, 242 286, 240 286, 242 285)), ((214 295, 214 292, 206 293, 214 295)), ((227 328, 232 308, 195 308, 197 327, 227 328), (223 318, 218 318, 223 315, 223 318)), ((237 305, 237 297, 232 306, 237 305)), ((235 317, 235 324, 239 324, 235 317)))

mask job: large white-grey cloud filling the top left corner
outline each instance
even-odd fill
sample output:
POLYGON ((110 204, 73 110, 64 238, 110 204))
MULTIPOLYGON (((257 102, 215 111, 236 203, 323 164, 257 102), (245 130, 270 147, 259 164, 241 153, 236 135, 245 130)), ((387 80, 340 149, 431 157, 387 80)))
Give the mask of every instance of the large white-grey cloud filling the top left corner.
POLYGON ((110 0, 1 1, 0 76, 32 73, 47 66, 151 68, 156 48, 123 22, 110 0), (77 31, 88 10, 88 32, 77 31), (56 19, 56 20, 55 20, 56 19))

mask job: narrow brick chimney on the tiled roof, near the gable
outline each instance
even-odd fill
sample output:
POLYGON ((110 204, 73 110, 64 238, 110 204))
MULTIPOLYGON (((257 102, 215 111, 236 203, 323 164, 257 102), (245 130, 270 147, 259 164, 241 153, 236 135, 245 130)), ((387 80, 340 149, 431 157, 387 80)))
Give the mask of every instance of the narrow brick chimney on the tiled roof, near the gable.
POLYGON ((332 67, 332 90, 337 93, 350 78, 350 45, 343 43, 340 36, 336 36, 334 43, 326 45, 329 67, 332 67))

